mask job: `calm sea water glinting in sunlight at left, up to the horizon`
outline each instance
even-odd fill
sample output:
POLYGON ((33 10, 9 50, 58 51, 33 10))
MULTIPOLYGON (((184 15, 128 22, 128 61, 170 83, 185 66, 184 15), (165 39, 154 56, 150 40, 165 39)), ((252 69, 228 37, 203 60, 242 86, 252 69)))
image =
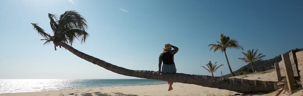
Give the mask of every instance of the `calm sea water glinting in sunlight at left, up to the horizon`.
POLYGON ((0 94, 165 83, 153 79, 0 79, 0 94))

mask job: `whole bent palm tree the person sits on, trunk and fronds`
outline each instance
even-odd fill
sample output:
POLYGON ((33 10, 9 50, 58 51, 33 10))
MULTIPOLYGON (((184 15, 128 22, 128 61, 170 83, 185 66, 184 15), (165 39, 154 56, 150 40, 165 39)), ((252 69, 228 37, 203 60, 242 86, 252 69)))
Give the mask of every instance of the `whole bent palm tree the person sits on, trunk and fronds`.
POLYGON ((48 17, 50 19, 52 31, 54 33, 53 36, 45 33, 44 29, 39 27, 37 23, 32 23, 34 29, 38 32, 38 34, 44 37, 42 40, 46 40, 44 44, 53 42, 55 45, 55 50, 57 46, 60 48, 62 46, 86 61, 89 61, 105 68, 106 70, 110 70, 121 75, 146 79, 157 79, 163 81, 174 80, 174 82, 226 89, 239 93, 270 92, 275 90, 274 85, 277 82, 272 81, 245 80, 237 78, 228 79, 222 77, 190 75, 183 73, 161 73, 146 70, 129 70, 118 67, 111 63, 105 62, 104 60, 100 60, 88 54, 82 53, 81 51, 78 51, 70 46, 72 45, 74 39, 81 39, 81 42, 85 42, 88 36, 88 33, 86 32, 86 21, 80 14, 75 11, 66 11, 64 14, 60 15, 60 17, 56 17, 56 15, 53 14, 48 14, 48 17), (251 84, 251 82, 254 82, 255 84, 251 84))

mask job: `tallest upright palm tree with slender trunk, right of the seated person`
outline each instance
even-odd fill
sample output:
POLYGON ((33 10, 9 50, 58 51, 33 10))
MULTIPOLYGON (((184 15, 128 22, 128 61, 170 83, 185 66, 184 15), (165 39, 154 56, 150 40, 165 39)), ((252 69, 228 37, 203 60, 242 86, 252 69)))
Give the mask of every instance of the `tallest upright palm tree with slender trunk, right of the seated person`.
POLYGON ((235 76, 235 74, 232 72, 228 59, 227 59, 227 55, 226 55, 226 48, 235 48, 235 49, 242 49, 241 45, 238 45, 238 41, 235 39, 230 39, 229 36, 225 36, 224 34, 220 33, 220 42, 217 41, 217 44, 210 44, 208 46, 211 46, 211 49, 214 49, 214 52, 216 52, 217 50, 221 50, 221 52, 225 54, 225 58, 227 61, 227 65, 229 68, 229 71, 231 73, 232 76, 235 76))

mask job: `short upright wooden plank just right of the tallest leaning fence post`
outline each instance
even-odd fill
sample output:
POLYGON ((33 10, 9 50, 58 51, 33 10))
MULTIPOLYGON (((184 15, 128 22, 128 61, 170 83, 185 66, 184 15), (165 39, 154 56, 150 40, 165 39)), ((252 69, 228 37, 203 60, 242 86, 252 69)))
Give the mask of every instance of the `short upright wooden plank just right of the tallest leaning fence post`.
POLYGON ((298 77, 298 63, 297 63, 297 59, 296 59, 296 53, 298 50, 293 50, 289 52, 289 59, 290 59, 290 63, 291 63, 291 67, 292 67, 292 71, 294 73, 295 77, 298 77))

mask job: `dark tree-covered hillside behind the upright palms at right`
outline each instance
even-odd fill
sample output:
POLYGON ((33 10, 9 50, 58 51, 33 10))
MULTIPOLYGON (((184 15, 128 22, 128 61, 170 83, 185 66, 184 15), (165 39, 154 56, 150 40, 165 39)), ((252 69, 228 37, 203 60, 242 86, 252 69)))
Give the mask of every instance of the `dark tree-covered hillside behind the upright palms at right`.
MULTIPOLYGON (((296 49, 293 49, 293 50, 302 51, 303 48, 300 48, 300 49, 296 48, 296 49)), ((293 51, 293 50, 290 50, 290 51, 293 51)), ((290 51, 287 51, 285 53, 289 53, 290 51)), ((275 58, 272 58, 272 59, 269 59, 269 60, 261 60, 260 62, 256 62, 256 63, 254 63, 253 67, 257 71, 265 71, 265 70, 268 70, 268 67, 269 67, 269 69, 275 68, 275 63, 278 63, 281 60, 282 60, 282 57, 281 57, 281 55, 279 55, 279 56, 276 56, 275 58)), ((234 71, 233 73, 235 75, 242 75, 242 74, 252 73, 252 70, 249 70, 249 69, 251 69, 251 64, 250 63, 241 67, 240 69, 234 71)), ((231 77, 231 74, 223 75, 223 77, 231 77)))

